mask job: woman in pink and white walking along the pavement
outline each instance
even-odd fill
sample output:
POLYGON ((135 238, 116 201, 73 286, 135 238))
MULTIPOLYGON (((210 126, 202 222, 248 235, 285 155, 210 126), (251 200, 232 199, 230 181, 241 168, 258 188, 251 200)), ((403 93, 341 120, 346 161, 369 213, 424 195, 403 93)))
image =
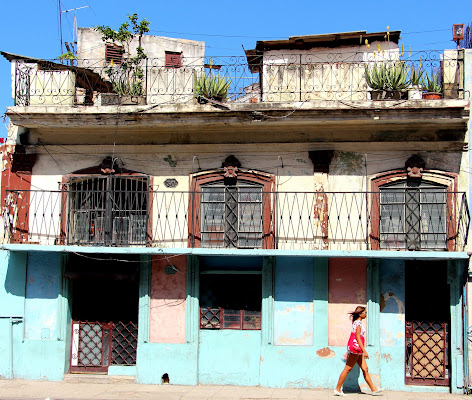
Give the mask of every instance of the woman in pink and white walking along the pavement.
POLYGON ((341 372, 341 375, 339 376, 338 384, 336 386, 336 389, 334 389, 334 395, 346 396, 346 394, 343 393, 341 388, 347 378, 347 375, 349 374, 349 372, 351 372, 351 369, 354 367, 354 365, 356 365, 356 363, 359 364, 359 367, 361 368, 362 373, 364 374, 364 379, 369 385, 370 390, 372 390, 372 394, 378 395, 383 392, 384 389, 376 388, 374 386, 374 384, 372 383, 372 379, 369 375, 367 363, 365 361, 367 358, 369 358, 369 355, 367 354, 367 351, 364 347, 365 328, 362 325, 362 320, 364 320, 367 316, 365 307, 357 306, 354 312, 350 314, 352 320, 352 330, 351 336, 349 337, 349 341, 347 343, 347 351, 349 357, 347 358, 346 366, 344 367, 343 372, 341 372))

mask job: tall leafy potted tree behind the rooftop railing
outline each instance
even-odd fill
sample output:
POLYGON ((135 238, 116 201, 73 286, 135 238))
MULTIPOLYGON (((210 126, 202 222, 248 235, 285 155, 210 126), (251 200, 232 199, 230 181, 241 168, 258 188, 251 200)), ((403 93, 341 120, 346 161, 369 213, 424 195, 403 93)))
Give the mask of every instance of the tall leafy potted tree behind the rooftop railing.
POLYGON ((118 42, 122 48, 121 63, 114 64, 112 61, 105 70, 113 85, 113 91, 119 97, 118 104, 146 104, 142 63, 147 56, 141 47, 141 37, 149 32, 150 22, 146 19, 138 21, 138 14, 128 15, 127 18, 129 22, 121 24, 117 31, 103 25, 96 26, 95 29, 102 33, 102 40, 105 43, 118 42), (138 35, 139 45, 136 48, 136 55, 132 56, 130 44, 135 35, 138 35))

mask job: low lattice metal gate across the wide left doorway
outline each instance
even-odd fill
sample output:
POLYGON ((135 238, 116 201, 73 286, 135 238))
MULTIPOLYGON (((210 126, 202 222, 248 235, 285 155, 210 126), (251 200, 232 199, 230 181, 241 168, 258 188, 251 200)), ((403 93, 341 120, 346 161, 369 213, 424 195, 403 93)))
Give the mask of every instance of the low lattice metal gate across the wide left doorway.
POLYGON ((106 372, 110 365, 135 365, 135 322, 72 322, 71 372, 106 372))

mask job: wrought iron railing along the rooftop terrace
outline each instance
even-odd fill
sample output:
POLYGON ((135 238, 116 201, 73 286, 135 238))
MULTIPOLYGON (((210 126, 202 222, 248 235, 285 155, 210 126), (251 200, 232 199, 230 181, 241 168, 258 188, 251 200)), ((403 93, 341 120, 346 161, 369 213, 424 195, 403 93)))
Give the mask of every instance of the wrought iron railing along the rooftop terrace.
MULTIPOLYGON (((464 97, 463 55, 460 51, 398 50, 280 54, 277 56, 182 58, 182 67, 166 67, 164 59, 145 59, 134 75, 104 60, 16 61, 15 105, 117 105, 207 102, 208 93, 195 79, 220 76, 229 83, 225 101, 292 102, 370 100, 366 68, 401 62, 407 71, 421 68, 439 75, 445 98, 464 97), (249 62, 248 62, 249 59, 249 62), (131 75, 130 75, 131 74, 131 75)), ((402 96, 407 96, 406 91, 402 96)), ((212 100, 212 99, 210 99, 212 100)), ((213 99, 215 100, 215 99, 213 99)))

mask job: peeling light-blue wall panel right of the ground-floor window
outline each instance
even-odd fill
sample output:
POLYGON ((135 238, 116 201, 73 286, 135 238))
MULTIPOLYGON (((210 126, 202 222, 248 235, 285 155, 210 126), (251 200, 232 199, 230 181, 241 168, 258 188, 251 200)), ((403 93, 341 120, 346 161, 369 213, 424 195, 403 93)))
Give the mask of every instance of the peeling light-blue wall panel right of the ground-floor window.
POLYGON ((277 258, 274 344, 313 344, 313 259, 277 258))

